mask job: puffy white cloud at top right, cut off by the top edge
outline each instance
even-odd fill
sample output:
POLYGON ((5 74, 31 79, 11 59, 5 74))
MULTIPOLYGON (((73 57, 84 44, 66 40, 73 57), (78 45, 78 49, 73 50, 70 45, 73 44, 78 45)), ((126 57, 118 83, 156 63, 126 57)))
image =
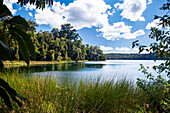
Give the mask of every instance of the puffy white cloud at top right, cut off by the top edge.
POLYGON ((145 21, 142 16, 146 9, 146 0, 124 0, 124 2, 114 4, 118 10, 123 10, 120 14, 123 18, 130 19, 130 21, 145 21))

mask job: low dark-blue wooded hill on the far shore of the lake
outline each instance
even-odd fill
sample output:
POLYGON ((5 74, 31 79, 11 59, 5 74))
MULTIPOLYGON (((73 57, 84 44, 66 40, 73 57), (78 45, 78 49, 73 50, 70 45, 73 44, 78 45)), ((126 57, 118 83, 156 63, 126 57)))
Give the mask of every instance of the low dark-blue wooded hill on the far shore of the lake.
POLYGON ((107 56, 107 60, 154 60, 155 56, 155 54, 149 56, 149 54, 138 53, 108 53, 105 55, 107 56))

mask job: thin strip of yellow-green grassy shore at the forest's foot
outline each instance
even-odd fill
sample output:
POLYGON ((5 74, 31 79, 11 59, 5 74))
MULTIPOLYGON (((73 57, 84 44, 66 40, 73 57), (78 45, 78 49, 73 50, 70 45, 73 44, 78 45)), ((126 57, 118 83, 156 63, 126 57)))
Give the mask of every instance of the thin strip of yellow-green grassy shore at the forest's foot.
MULTIPOLYGON (((87 60, 81 60, 78 62, 87 62, 87 60)), ((33 65, 45 65, 45 64, 59 64, 59 63, 75 63, 75 61, 30 61, 30 66, 33 65)), ((3 61, 4 67, 20 67, 20 66, 27 66, 24 61, 3 61)))

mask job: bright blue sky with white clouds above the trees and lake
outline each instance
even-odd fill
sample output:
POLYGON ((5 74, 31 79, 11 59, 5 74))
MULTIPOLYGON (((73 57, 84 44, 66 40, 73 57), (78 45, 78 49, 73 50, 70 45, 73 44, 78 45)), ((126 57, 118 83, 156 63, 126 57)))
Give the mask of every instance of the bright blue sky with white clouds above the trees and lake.
POLYGON ((17 0, 5 0, 13 15, 34 20, 37 31, 51 31, 70 23, 84 44, 97 45, 105 53, 136 53, 132 42, 152 42, 148 38, 151 27, 158 27, 154 15, 163 15, 159 8, 166 0, 54 0, 44 10, 27 4, 20 7, 17 0))

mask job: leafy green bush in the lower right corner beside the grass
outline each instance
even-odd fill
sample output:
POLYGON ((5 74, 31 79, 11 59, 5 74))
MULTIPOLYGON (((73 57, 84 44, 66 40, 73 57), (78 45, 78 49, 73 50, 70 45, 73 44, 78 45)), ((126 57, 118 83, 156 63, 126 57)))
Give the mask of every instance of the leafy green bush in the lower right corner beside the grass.
POLYGON ((137 85, 149 96, 151 111, 166 112, 170 110, 170 106, 168 105, 170 104, 168 81, 164 80, 161 75, 155 78, 142 64, 140 71, 146 75, 147 81, 138 78, 137 85), (168 103, 167 105, 163 103, 166 101, 168 103))

